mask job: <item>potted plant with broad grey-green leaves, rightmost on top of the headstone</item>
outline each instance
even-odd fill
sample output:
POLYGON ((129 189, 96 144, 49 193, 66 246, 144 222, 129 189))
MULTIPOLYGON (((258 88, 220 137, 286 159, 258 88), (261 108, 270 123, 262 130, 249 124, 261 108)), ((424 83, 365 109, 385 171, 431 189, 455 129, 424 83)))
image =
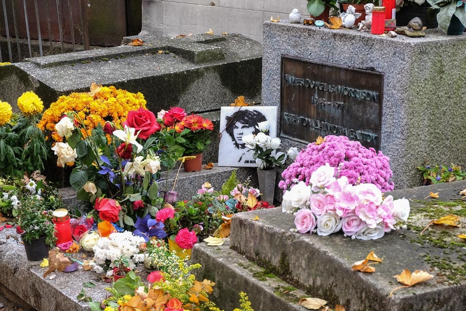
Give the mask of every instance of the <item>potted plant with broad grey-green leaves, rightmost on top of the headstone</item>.
POLYGON ((466 26, 466 9, 463 0, 427 0, 437 13, 438 27, 447 35, 461 35, 466 26))

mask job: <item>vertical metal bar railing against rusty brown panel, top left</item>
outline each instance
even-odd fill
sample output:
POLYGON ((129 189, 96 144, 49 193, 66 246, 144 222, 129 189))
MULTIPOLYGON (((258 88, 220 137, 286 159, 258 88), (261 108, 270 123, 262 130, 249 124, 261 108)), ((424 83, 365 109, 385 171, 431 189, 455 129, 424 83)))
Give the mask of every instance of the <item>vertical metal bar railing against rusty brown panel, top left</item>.
POLYGON ((2 43, 6 39, 6 48, 0 46, 0 62, 9 59, 13 63, 14 58, 21 61, 26 57, 53 55, 60 51, 64 53, 66 43, 72 45, 73 52, 76 51, 77 44, 83 45, 84 50, 89 50, 88 1, 1 0, 3 21, 0 17, 0 38, 2 43), (28 49, 22 51, 21 45, 26 39, 28 49), (37 40, 38 55, 33 53, 33 40, 37 40), (47 41, 49 46, 45 48, 43 43, 47 41), (57 48, 58 43, 60 49, 57 48), (17 57, 12 53, 15 44, 17 57))

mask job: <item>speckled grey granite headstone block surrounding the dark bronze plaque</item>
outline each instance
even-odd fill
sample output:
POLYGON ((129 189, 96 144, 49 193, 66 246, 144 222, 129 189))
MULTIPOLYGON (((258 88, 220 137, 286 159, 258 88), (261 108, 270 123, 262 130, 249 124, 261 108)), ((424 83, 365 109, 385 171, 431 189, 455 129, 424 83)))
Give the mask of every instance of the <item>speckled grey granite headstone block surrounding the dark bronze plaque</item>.
POLYGON ((281 55, 382 72, 381 150, 390 157, 395 187, 417 186, 416 166, 425 160, 466 163, 466 123, 457 113, 466 108, 466 63, 458 57, 466 51, 466 36, 446 36, 437 29, 426 34, 389 38, 267 21, 262 104, 280 103, 281 55))

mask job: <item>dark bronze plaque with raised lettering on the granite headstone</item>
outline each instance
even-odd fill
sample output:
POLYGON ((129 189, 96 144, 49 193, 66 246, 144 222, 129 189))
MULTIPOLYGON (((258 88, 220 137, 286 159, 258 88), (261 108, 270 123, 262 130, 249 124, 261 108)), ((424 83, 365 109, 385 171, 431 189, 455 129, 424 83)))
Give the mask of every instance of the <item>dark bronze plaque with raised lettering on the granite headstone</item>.
POLYGON ((281 136, 345 135, 380 148, 383 73, 282 56, 281 136))

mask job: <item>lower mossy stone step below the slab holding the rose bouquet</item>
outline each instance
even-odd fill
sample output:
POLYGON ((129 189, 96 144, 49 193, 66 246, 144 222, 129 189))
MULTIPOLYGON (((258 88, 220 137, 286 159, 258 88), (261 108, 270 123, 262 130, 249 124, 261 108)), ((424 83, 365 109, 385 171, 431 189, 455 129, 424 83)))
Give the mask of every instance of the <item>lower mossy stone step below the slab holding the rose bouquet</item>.
POLYGON ((254 311, 305 311, 298 301, 306 294, 230 249, 230 239, 221 246, 195 244, 192 262, 196 279, 215 281, 212 300, 224 310, 239 308, 239 293, 248 294, 254 311))

